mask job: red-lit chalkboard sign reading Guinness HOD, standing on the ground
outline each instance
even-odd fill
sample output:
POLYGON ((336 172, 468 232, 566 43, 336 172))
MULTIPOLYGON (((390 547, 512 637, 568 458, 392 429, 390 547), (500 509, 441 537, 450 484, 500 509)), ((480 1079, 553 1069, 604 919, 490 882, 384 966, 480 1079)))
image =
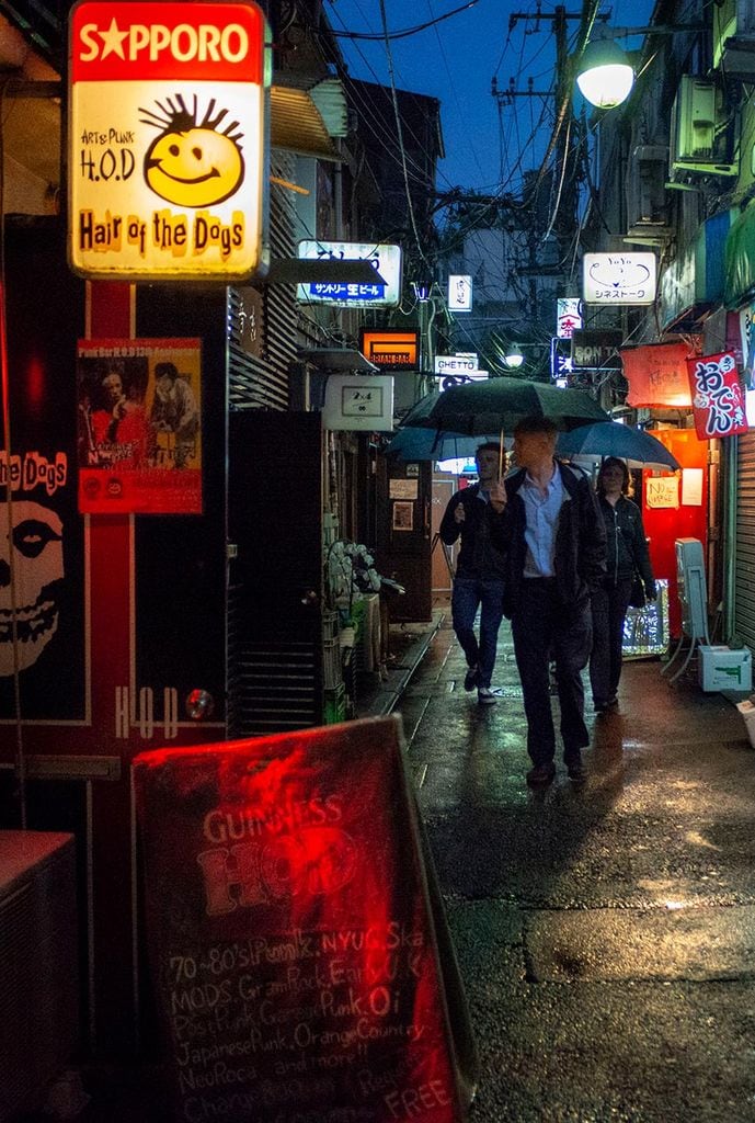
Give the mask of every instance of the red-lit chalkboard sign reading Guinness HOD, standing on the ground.
POLYGON ((176 1119, 460 1123, 475 1049, 399 720, 133 769, 176 1119))

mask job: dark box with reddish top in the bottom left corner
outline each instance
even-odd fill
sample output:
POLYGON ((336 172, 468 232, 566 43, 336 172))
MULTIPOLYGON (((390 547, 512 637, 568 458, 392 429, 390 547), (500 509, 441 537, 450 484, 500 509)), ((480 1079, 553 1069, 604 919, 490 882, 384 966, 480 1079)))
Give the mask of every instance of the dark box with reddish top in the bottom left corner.
POLYGON ((38 1110, 79 1034, 73 834, 0 831, 0 1120, 38 1110))

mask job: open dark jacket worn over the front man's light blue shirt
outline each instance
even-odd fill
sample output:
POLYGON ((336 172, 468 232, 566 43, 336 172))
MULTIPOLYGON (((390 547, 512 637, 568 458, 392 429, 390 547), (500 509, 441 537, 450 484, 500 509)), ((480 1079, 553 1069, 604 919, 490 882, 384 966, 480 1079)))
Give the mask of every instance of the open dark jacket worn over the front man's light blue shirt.
MULTIPOLYGON (((559 511, 553 568, 559 600, 564 609, 581 612, 590 592, 606 575, 606 528, 598 510, 597 495, 588 476, 577 474, 556 462, 567 493, 559 511)), ((506 556, 504 613, 514 614, 521 595, 527 544, 524 532, 527 515, 519 489, 525 480, 519 469, 505 481, 508 502, 501 514, 490 512, 492 540, 506 556)))

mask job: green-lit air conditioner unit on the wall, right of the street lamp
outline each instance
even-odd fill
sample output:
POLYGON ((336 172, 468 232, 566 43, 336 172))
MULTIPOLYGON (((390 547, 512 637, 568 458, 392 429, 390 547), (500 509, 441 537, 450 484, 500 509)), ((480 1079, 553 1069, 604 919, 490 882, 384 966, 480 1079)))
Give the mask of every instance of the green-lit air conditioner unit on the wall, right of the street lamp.
POLYGON ((734 111, 716 82, 683 74, 671 110, 672 180, 680 172, 736 175, 734 111))

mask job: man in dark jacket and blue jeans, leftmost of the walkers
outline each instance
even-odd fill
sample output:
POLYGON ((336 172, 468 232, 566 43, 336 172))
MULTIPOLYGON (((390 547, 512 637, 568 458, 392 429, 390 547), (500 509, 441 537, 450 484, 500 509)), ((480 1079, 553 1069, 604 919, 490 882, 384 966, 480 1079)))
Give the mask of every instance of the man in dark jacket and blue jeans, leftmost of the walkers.
POLYGON ((457 639, 467 657, 464 690, 477 686, 480 705, 491 705, 490 690, 496 661, 498 629, 504 614, 504 557, 490 540, 488 494, 503 471, 499 445, 486 442, 475 454, 479 483, 455 492, 440 527, 441 541, 453 545, 461 536, 451 597, 451 618, 457 639), (480 609, 480 639, 475 618, 480 609))

